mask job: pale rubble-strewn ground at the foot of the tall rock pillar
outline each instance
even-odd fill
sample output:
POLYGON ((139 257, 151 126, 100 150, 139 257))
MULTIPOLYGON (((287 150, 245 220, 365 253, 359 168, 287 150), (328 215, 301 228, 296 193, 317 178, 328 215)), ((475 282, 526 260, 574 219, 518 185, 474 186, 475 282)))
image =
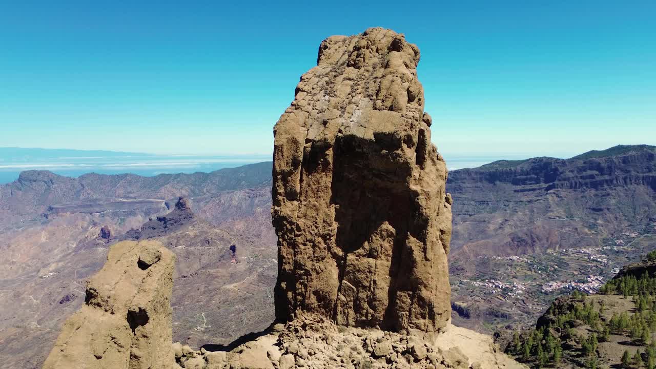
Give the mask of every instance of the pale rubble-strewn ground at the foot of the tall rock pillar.
POLYGON ((276 324, 232 351, 174 344, 183 368, 523 368, 491 337, 451 327, 436 343, 381 330, 337 326, 320 316, 276 324), (450 333, 449 333, 450 332, 450 333))

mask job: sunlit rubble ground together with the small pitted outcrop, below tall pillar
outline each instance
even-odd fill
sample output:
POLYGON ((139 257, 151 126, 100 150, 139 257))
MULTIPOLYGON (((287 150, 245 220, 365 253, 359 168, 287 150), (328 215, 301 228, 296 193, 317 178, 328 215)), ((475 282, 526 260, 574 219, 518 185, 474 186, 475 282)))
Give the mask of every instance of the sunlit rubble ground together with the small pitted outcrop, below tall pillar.
POLYGON ((520 368, 491 337, 452 327, 427 342, 337 326, 306 314, 230 347, 171 344, 171 251, 159 242, 119 242, 87 286, 85 305, 64 324, 44 368, 520 368))

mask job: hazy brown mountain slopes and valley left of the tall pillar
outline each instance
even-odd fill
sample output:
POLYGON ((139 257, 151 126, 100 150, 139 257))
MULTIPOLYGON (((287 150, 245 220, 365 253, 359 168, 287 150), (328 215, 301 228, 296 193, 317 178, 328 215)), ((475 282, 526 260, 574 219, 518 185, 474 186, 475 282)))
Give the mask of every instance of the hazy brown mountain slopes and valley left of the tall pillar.
POLYGON ((0 222, 0 368, 43 364, 64 320, 81 307, 85 284, 102 267, 108 247, 117 240, 136 239, 126 233, 158 238, 178 255, 173 293, 176 340, 202 345, 212 337, 228 343, 263 329, 273 319, 276 235, 270 220, 271 163, 228 174, 163 176, 160 180, 166 180, 157 183, 157 177, 94 175, 103 190, 94 192, 92 199, 73 190, 88 180, 38 173, 49 180, 0 186, 1 196, 9 194, 0 202, 16 204, 0 209, 10 218, 0 222), (192 177, 199 181, 190 182, 192 177), (219 183, 216 192, 211 192, 212 185, 203 189, 206 181, 219 183), (255 187, 241 188, 251 185, 255 187), (167 215, 170 209, 176 211, 177 197, 169 198, 169 193, 188 192, 197 194, 190 197, 195 213, 180 227, 155 227, 157 218, 176 218, 167 215), (117 198, 123 195, 144 198, 117 198), (155 229, 139 231, 144 223, 155 229), (228 255, 232 244, 238 246, 235 264, 228 255), (209 311, 208 303, 220 309, 209 311))

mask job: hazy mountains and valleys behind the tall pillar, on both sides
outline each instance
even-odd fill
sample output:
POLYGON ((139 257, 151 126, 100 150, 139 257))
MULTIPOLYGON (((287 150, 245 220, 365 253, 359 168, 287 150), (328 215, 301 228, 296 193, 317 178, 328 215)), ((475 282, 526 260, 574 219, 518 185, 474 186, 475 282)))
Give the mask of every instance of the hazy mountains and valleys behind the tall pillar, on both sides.
MULTIPOLYGON (((39 366, 106 245, 121 238, 155 237, 178 254, 175 286, 194 293, 174 292, 176 340, 227 343, 266 326, 262 301, 276 271, 271 173, 271 162, 154 177, 23 171, 0 185, 0 315, 9 317, 0 320, 0 355, 39 366), (178 196, 194 211, 179 222, 179 212, 167 215, 178 196), (173 223, 180 227, 163 226, 173 223), (244 257, 233 269, 232 242, 244 257), (224 310, 206 311, 208 298, 224 310)), ((656 248, 655 179, 656 148, 647 145, 450 171, 455 322, 484 332, 531 324, 562 292, 558 283, 607 278, 656 248), (545 292, 548 282, 556 289, 545 292)))

